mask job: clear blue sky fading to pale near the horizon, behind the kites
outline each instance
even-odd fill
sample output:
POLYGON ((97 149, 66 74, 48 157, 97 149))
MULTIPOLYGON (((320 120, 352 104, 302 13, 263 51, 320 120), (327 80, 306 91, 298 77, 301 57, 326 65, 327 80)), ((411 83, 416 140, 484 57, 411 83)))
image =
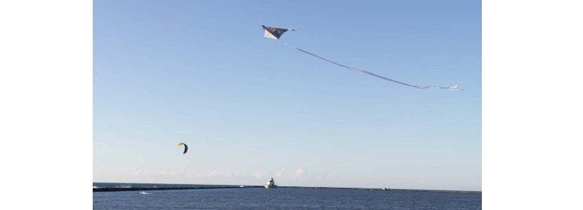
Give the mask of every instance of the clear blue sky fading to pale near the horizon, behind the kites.
POLYGON ((480 5, 93 1, 93 181, 481 190, 480 5))

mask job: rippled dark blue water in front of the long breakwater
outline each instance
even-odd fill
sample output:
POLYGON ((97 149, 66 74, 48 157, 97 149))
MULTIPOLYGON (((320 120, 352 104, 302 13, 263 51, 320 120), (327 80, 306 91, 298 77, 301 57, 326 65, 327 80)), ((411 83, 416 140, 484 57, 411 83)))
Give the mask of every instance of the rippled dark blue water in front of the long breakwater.
POLYGON ((93 209, 481 209, 482 206, 480 193, 322 188, 146 192, 150 194, 135 191, 93 193, 93 209))

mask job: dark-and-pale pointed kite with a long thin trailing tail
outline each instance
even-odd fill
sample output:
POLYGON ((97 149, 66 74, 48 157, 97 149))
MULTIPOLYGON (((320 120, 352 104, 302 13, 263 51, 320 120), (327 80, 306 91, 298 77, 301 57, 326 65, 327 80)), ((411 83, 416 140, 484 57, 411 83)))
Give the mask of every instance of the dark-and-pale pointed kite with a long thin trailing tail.
MULTIPOLYGON (((325 61, 327 61, 327 62, 330 62, 330 63, 332 63, 332 64, 336 64, 336 65, 338 65, 338 66, 341 66, 341 67, 343 67, 343 68, 345 68, 345 69, 348 69, 348 70, 351 70, 351 71, 356 71, 356 72, 359 72, 359 73, 366 73, 366 74, 368 74, 368 75, 370 75, 370 76, 376 76, 376 77, 378 77, 378 78, 381 78, 381 79, 384 79, 384 80, 388 80, 388 81, 391 81, 391 82, 393 82, 393 83, 399 83, 399 84, 401 84, 401 85, 407 85, 407 86, 409 86, 409 87, 415 87, 415 88, 419 88, 419 89, 427 89, 427 88, 440 88, 440 89, 445 89, 445 90, 462 90, 462 89, 459 89, 459 88, 457 87, 457 85, 455 85, 455 86, 450 86, 450 87, 442 87, 442 86, 436 86, 436 85, 426 85, 426 86, 420 86, 420 85, 410 85, 410 84, 407 84, 407 83, 400 82, 400 81, 398 81, 398 80, 393 80, 393 79, 391 79, 391 78, 386 78, 386 77, 384 77, 384 76, 377 75, 377 74, 375 74, 375 73, 372 73, 372 72, 369 72, 369 71, 365 71, 365 70, 361 70, 361 69, 355 69, 355 68, 353 68, 353 67, 350 67, 350 66, 346 66, 346 65, 343 65, 343 64, 339 64, 339 63, 337 63, 337 62, 333 62, 332 60, 326 59, 326 58, 324 58, 324 57, 320 57, 320 56, 318 56, 318 55, 315 55, 315 54, 313 54, 312 52, 308 52, 308 51, 306 51, 306 50, 302 50, 302 49, 300 49, 300 48, 297 48, 297 47, 296 47, 296 46, 294 46, 294 45, 291 45, 291 44, 289 44, 289 43, 287 43, 287 42, 284 42, 284 41, 281 41, 281 40, 280 40, 280 37, 281 37, 281 36, 282 36, 282 35, 283 35, 283 34, 284 34, 286 31, 295 31, 294 29, 280 29, 280 28, 274 28, 274 27, 266 27, 266 26, 264 26, 264 25, 261 25, 261 27, 263 27, 263 31, 265 31, 265 34, 264 34, 263 36, 265 36, 266 38, 273 38, 273 39, 275 39, 275 40, 277 40, 277 41, 280 41, 281 43, 284 43, 284 44, 288 45, 290 48, 294 48, 294 49, 296 49, 296 50, 300 50, 300 51, 301 51, 301 52, 303 52, 303 53, 306 53, 306 54, 308 54, 308 55, 312 55, 312 56, 314 56, 314 57, 317 57, 317 58, 323 59, 323 60, 325 60, 325 61)), ((465 91, 465 90, 462 90, 462 91, 465 91)))

